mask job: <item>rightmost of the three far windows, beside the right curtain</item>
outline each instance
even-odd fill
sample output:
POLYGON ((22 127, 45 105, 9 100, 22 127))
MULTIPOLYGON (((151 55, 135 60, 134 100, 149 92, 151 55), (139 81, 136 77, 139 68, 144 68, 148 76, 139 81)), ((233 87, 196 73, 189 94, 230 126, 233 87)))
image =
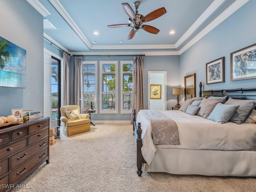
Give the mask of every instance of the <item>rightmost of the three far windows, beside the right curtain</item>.
POLYGON ((132 61, 121 61, 121 113, 132 112, 132 61))

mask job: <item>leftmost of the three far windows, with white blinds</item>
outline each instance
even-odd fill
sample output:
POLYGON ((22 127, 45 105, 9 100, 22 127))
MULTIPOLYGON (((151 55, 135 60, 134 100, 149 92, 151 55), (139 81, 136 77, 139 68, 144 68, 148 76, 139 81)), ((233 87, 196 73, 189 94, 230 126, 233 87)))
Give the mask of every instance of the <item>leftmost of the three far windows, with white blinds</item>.
POLYGON ((83 61, 84 108, 97 112, 97 61, 83 61))

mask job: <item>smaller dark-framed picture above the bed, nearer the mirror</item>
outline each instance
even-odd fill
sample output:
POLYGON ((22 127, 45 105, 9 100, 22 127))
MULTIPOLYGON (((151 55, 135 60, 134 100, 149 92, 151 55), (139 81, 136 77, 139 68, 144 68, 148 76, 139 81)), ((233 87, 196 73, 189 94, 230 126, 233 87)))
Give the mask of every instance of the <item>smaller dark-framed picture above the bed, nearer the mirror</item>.
POLYGON ((206 84, 224 82, 224 57, 206 63, 206 84))

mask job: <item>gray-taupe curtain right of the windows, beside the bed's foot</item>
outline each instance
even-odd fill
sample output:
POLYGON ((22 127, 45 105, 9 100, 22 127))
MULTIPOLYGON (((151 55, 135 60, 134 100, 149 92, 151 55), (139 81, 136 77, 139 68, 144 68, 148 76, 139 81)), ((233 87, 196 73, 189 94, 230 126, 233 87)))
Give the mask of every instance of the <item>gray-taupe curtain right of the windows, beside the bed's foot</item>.
POLYGON ((144 57, 133 57, 133 72, 132 72, 132 118, 133 124, 133 111, 136 110, 136 114, 139 110, 145 108, 144 104, 144 84, 143 84, 143 63, 144 57))

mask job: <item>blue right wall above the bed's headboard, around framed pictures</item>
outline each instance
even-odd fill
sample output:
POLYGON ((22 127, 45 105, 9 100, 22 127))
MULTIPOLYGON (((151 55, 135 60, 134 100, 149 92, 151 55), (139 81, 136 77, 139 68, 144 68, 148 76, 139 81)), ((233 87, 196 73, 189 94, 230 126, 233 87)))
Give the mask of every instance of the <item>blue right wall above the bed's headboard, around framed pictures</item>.
MULTIPOLYGON (((251 0, 180 56, 180 80, 196 73, 203 90, 256 87, 256 79, 230 81, 230 53, 256 43, 256 1, 251 0), (206 63, 225 57, 224 83, 206 85, 206 63)), ((198 96, 198 91, 196 93, 198 96)))

